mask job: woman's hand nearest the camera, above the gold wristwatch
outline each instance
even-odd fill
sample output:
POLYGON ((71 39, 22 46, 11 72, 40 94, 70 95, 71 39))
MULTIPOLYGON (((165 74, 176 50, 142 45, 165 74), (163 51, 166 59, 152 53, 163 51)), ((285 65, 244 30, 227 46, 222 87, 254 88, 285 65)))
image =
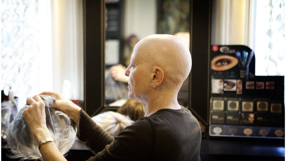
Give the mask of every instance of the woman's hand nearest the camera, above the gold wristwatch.
POLYGON ((45 104, 40 96, 27 98, 27 105, 24 106, 23 119, 30 128, 35 139, 39 142, 44 137, 50 137, 46 125, 45 104))

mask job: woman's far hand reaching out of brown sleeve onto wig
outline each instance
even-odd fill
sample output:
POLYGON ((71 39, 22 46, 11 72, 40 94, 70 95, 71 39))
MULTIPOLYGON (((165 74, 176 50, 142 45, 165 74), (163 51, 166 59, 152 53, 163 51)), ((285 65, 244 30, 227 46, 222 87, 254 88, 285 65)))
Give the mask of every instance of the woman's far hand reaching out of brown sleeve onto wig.
POLYGON ((75 123, 79 120, 79 111, 81 108, 74 104, 71 100, 64 98, 59 92, 44 91, 40 94, 53 95, 56 101, 53 107, 63 111, 67 116, 71 117, 75 123))

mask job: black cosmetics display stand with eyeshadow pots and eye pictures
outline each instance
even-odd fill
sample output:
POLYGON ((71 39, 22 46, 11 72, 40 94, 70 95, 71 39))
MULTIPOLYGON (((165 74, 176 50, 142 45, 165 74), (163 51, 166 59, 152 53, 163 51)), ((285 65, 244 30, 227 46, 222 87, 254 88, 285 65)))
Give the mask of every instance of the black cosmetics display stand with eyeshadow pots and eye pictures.
POLYGON ((213 45, 210 57, 209 135, 284 139, 284 76, 256 76, 243 45, 213 45))

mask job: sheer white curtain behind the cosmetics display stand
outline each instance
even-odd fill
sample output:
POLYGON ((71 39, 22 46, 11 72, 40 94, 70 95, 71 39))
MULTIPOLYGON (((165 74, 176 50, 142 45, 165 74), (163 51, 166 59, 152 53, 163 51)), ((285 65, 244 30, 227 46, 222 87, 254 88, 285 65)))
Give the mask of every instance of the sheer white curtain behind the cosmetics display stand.
POLYGON ((285 75, 285 33, 285 0, 213 1, 211 44, 250 47, 256 75, 285 75))

